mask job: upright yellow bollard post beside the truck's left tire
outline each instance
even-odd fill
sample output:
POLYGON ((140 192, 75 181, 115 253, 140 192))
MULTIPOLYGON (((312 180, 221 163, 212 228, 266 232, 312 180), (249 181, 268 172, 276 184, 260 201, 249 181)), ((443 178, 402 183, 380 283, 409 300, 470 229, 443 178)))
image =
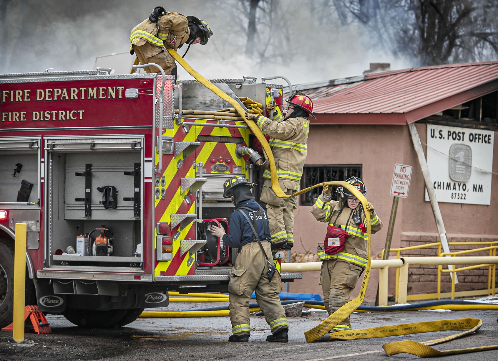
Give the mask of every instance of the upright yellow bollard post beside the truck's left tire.
POLYGON ((15 223, 13 335, 24 342, 24 291, 26 287, 26 223, 15 223))

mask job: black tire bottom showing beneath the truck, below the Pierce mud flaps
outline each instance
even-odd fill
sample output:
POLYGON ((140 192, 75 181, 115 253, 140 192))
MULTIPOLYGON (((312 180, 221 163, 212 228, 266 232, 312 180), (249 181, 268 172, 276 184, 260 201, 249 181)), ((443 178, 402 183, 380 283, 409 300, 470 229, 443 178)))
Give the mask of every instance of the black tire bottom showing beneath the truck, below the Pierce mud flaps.
POLYGON ((128 310, 78 310, 66 309, 62 315, 76 326, 84 328, 107 329, 117 325, 128 310))

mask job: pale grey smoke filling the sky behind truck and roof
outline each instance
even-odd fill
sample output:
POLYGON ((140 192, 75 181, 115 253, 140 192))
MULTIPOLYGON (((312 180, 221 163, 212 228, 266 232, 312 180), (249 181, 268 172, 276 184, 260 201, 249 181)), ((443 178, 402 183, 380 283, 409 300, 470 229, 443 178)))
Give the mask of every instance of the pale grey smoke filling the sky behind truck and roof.
MULTIPOLYGON (((0 70, 94 69, 96 57, 128 51, 131 28, 157 5, 209 23, 214 31, 209 43, 193 45, 185 58, 208 79, 284 75, 296 84, 359 75, 369 62, 391 63, 391 69, 414 64, 389 51, 374 51, 358 23, 331 27, 318 21, 323 8, 309 4, 273 0, 268 12, 258 10, 254 49, 246 54, 247 17, 240 0, 0 0, 0 70)), ((126 54, 119 58, 124 69, 134 59, 126 54)), ((117 61, 101 57, 98 65, 115 68, 117 61)), ((183 69, 178 76, 191 78, 183 69)))

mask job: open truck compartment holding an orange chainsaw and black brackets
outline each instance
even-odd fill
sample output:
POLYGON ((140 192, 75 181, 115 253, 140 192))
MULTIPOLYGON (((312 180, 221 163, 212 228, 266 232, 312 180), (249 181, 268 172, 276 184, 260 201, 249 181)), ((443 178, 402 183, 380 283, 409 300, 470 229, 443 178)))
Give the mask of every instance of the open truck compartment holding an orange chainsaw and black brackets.
POLYGON ((48 268, 143 270, 141 141, 47 140, 48 268))

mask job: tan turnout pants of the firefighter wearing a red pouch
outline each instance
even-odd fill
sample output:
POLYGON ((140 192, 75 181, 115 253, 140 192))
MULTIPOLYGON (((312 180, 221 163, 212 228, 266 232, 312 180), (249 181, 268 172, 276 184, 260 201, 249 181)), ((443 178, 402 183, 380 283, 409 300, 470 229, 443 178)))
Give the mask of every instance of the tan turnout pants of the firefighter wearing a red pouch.
MULTIPOLYGON (((323 261, 320 284, 323 291, 323 304, 329 315, 349 302, 362 271, 363 268, 353 263, 336 259, 323 261)), ((349 316, 334 329, 351 329, 349 316)))

